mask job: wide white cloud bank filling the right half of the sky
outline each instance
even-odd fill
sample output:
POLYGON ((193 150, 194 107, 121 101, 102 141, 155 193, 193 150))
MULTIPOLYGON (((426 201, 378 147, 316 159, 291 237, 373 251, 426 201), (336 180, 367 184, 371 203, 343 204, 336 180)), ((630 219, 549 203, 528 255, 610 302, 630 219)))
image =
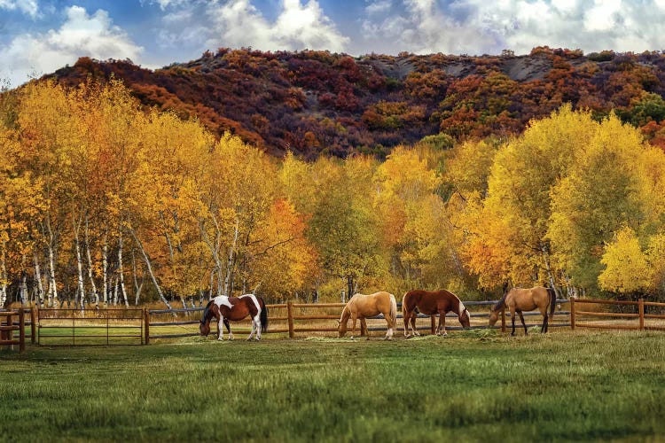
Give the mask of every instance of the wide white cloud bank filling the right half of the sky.
POLYGON ((355 43, 353 50, 387 44, 393 53, 665 49, 665 0, 402 0, 401 7, 380 18, 365 8, 363 49, 355 43))

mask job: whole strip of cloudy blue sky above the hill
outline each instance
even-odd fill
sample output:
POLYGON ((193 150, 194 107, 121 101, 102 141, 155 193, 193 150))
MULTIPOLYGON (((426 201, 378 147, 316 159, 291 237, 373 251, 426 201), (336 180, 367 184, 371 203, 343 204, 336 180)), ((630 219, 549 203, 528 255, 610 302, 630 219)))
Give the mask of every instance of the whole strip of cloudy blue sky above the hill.
POLYGON ((665 0, 0 0, 0 86, 87 56, 146 68, 220 47, 354 56, 665 49, 665 0))

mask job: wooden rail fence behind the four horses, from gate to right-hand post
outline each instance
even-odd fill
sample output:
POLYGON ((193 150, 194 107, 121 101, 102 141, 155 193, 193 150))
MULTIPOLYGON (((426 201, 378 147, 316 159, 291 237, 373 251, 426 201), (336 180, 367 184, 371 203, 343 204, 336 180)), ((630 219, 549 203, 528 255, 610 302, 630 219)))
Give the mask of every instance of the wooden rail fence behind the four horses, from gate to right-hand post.
MULTIPOLYGON (((557 303, 564 304, 567 303, 567 299, 559 299, 557 303)), ((495 305, 497 303, 494 301, 465 301, 466 307, 488 307, 495 305)), ((340 313, 343 307, 346 306, 345 303, 296 303, 293 301, 288 301, 282 304, 271 304, 266 305, 268 307, 268 323, 269 328, 265 333, 270 334, 284 334, 288 338, 295 338, 296 334, 301 334, 302 332, 337 332, 336 321, 340 319, 340 313), (277 314, 275 314, 277 311, 277 314), (277 323, 277 325, 276 325, 277 323)), ((401 309, 402 304, 397 304, 398 310, 401 309)), ((181 337, 192 337, 199 335, 199 324, 200 315, 198 313, 204 310, 203 307, 194 307, 187 309, 156 309, 148 310, 147 315, 145 316, 145 343, 149 344, 151 339, 159 338, 181 338, 181 337), (196 317, 196 318, 192 318, 196 317), (184 318, 183 318, 184 317, 184 318), (188 318, 189 317, 189 318, 188 318), (174 330, 177 328, 178 330, 174 330), (193 328, 193 329, 192 329, 193 328)), ((473 310, 473 309, 472 309, 473 310)), ((568 311, 556 311, 554 320, 557 318, 565 318, 565 321, 552 322, 550 326, 552 327, 570 327, 570 323, 567 322, 570 312, 568 311)), ((488 312, 472 312, 472 329, 489 329, 487 322, 482 324, 473 324, 474 320, 481 318, 489 317, 488 312)), ((539 312, 525 312, 526 317, 537 316, 536 323, 528 323, 527 327, 531 326, 540 326, 541 315, 539 312)), ((506 330, 506 317, 509 315, 502 311, 501 315, 501 324, 495 325, 492 328, 506 330)), ((430 317, 430 315, 418 315, 419 319, 430 319, 429 322, 423 324, 422 320, 417 323, 418 330, 430 330, 434 333, 436 322, 438 320, 435 317, 430 317)), ((455 314, 448 314, 446 318, 454 319, 454 323, 446 324, 446 330, 463 330, 461 325, 458 325, 457 318, 455 314), (457 323, 457 324, 455 324, 457 323)), ((367 329, 370 331, 383 331, 387 330, 387 324, 385 322, 376 322, 376 320, 382 320, 383 315, 377 315, 368 320, 374 322, 369 322, 367 329)), ((403 331, 403 316, 401 312, 397 314, 397 327, 395 332, 403 331)), ((239 328, 238 323, 234 323, 231 326, 233 333, 239 334, 248 334, 250 332, 247 327, 250 323, 249 319, 246 319, 243 322, 239 322, 244 328, 239 328)), ((476 322, 477 323, 477 322, 476 322)), ((358 325, 359 327, 359 325, 358 325)), ((215 334, 215 331, 211 331, 215 334)))

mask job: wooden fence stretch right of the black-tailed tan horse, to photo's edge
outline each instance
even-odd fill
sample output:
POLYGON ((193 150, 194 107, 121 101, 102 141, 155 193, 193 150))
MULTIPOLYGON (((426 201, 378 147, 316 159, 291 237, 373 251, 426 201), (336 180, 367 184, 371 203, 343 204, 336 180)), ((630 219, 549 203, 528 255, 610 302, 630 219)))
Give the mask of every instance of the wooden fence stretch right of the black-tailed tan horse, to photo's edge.
POLYGON ((664 320, 665 315, 662 314, 647 314, 645 310, 648 307, 658 308, 661 311, 665 310, 665 303, 656 303, 653 301, 645 301, 638 299, 638 301, 618 301, 618 300, 602 300, 602 299, 570 299, 570 328, 597 328, 597 329, 622 329, 622 330, 665 330, 665 325, 661 324, 646 324, 647 320, 664 320), (593 312, 580 310, 580 304, 590 305, 605 305, 610 307, 633 307, 635 311, 632 313, 624 312, 593 312), (580 318, 582 317, 582 318, 580 318), (591 323, 592 318, 600 319, 614 319, 607 322, 603 320, 596 320, 591 323), (623 322, 617 322, 617 319, 623 322), (580 320, 583 320, 580 322, 580 320))

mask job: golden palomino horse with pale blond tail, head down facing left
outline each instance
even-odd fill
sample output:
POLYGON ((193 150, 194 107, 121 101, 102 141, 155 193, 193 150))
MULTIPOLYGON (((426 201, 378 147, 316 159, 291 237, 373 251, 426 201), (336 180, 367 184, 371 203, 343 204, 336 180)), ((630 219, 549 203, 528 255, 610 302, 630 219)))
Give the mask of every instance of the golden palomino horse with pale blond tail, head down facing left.
MULTIPOLYGON (((348 318, 351 318, 351 338, 356 334, 356 319, 360 319, 360 335, 363 331, 367 333, 367 323, 365 318, 373 317, 374 315, 383 314, 387 322, 387 340, 393 339, 393 333, 397 322, 397 301, 393 294, 387 292, 376 292, 370 295, 355 294, 348 300, 347 306, 341 311, 340 326, 338 328, 340 337, 344 337, 347 333, 348 318)), ((367 339, 370 339, 367 333, 367 339)))

